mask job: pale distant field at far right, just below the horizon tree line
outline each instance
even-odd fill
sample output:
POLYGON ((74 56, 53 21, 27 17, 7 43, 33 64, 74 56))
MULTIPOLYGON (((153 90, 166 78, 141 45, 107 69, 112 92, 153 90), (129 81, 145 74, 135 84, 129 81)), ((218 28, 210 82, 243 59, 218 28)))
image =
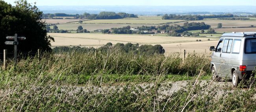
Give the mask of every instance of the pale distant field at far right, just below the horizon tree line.
MULTIPOLYGON (((204 22, 206 24, 211 25, 212 28, 217 28, 218 23, 222 23, 223 27, 249 27, 250 25, 256 26, 255 20, 195 20, 189 22, 204 22)), ((183 25, 184 22, 175 24, 183 25)))

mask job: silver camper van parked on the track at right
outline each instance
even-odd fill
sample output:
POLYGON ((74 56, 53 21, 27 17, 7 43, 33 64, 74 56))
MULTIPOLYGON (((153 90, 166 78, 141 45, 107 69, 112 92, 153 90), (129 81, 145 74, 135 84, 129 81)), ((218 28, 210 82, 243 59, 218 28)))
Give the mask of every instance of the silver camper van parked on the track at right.
POLYGON ((234 87, 249 78, 256 66, 256 32, 224 33, 216 46, 210 47, 212 77, 232 79, 234 87))

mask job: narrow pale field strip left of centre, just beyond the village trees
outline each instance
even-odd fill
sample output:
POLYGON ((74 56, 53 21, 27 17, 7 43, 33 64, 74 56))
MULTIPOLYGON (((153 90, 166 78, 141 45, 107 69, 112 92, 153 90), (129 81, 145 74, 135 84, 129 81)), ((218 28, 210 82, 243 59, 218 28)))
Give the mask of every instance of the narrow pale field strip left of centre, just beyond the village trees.
MULTIPOLYGON (((157 26, 154 24, 59 24, 57 26, 59 29, 65 29, 65 30, 76 30, 78 26, 82 26, 84 29, 87 29, 88 31, 94 31, 96 29, 121 28, 128 25, 134 28, 137 28, 143 25, 157 26)), ((53 26, 51 26, 51 28, 53 28, 53 26)))

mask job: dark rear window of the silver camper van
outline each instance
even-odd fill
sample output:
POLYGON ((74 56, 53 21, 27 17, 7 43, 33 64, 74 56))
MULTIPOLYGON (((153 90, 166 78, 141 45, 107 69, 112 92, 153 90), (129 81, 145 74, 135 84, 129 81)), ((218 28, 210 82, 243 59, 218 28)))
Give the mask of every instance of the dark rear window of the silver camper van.
POLYGON ((256 38, 245 40, 245 53, 256 53, 256 38))

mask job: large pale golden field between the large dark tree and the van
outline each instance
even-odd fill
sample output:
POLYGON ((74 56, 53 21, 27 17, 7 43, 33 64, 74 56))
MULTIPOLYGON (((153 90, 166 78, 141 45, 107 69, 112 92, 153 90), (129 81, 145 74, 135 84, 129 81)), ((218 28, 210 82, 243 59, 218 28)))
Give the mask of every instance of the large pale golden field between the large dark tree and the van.
POLYGON ((163 37, 150 35, 108 35, 97 33, 48 33, 54 37, 55 42, 51 42, 52 46, 86 46, 100 47, 108 42, 116 44, 120 43, 139 43, 139 44, 161 44, 166 54, 180 52, 186 49, 188 53, 210 53, 210 46, 215 46, 219 38, 195 38, 195 37, 163 37), (197 42, 196 40, 202 40, 197 42))

